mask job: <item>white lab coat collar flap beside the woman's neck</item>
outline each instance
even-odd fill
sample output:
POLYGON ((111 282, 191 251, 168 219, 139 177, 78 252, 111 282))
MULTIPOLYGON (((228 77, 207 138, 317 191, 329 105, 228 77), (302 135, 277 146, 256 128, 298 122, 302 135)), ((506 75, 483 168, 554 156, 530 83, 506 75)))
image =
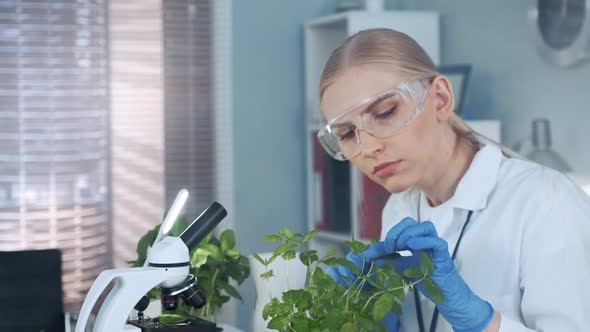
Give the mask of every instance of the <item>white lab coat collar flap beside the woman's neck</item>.
POLYGON ((480 149, 459 181, 451 205, 465 210, 485 209, 500 171, 502 150, 495 144, 480 149))

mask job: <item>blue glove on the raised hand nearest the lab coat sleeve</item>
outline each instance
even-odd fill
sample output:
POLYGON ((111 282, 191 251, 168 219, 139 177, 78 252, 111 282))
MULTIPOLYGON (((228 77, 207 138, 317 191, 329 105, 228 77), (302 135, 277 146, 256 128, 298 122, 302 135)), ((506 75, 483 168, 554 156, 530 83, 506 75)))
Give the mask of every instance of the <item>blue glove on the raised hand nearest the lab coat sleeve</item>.
MULTIPOLYGON (((416 264, 422 250, 430 256, 434 263, 430 278, 444 295, 444 301, 436 306, 455 331, 479 332, 488 326, 494 317, 494 308, 475 295, 459 275, 449 255, 447 242, 438 236, 432 222, 419 223, 410 217, 404 218, 387 232, 384 241, 371 245, 361 255, 372 261, 401 250, 410 250, 414 258, 400 257, 396 261, 406 261, 408 265, 412 264, 412 260, 416 264)), ((432 300, 421 283, 416 286, 432 300)))

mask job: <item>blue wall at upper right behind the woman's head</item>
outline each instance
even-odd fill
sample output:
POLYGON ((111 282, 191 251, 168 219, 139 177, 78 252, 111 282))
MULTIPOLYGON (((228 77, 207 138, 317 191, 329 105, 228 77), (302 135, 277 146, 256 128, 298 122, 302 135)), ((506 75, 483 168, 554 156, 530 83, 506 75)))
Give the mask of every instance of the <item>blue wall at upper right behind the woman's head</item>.
POLYGON ((530 136, 533 118, 547 117, 555 150, 590 174, 590 62, 563 69, 540 56, 527 18, 536 1, 409 2, 402 5, 441 14, 443 63, 473 65, 467 116, 501 120, 508 145, 530 136))

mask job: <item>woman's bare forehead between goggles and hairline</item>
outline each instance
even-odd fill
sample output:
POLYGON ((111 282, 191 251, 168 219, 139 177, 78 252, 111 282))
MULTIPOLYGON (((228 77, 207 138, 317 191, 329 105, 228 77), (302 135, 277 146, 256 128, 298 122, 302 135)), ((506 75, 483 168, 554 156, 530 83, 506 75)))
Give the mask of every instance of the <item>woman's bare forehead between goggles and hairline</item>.
POLYGON ((364 98, 396 87, 402 80, 399 74, 379 66, 348 68, 324 90, 320 109, 330 121, 364 98))

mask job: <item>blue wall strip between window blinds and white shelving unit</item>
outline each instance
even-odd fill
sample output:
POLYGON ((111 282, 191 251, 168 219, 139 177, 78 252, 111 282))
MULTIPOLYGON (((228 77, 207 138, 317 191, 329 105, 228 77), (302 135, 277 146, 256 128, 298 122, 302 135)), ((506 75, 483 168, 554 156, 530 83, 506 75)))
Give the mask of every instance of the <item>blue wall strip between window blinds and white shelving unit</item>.
MULTIPOLYGON (((233 5, 235 226, 246 254, 266 234, 306 229, 303 22, 333 1, 247 0, 233 5)), ((240 288, 238 324, 250 330, 254 283, 240 288)))

